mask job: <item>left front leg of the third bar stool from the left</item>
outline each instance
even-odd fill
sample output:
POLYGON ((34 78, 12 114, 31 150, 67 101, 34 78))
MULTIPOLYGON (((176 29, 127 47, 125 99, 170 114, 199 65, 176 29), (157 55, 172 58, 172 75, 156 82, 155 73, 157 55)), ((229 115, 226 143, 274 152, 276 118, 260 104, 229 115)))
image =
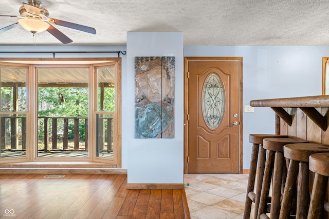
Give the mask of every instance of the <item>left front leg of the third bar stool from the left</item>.
POLYGON ((293 202, 293 196, 296 188, 294 184, 296 184, 298 176, 298 165, 298 161, 290 160, 279 218, 288 218, 288 216, 290 215, 291 205, 293 202))

